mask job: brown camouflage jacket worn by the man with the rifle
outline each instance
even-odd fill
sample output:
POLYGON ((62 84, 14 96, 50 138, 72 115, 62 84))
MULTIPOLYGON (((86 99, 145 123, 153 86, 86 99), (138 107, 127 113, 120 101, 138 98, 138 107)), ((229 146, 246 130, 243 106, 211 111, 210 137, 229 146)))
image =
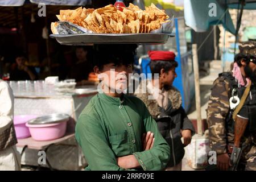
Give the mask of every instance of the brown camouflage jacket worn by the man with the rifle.
MULTIPOLYGON (((212 93, 207 109, 207 122, 209 126, 209 145, 217 154, 224 154, 228 145, 233 146, 234 143, 234 121, 226 119, 229 114, 229 98, 230 90, 237 87, 237 82, 232 73, 221 73, 213 82, 212 93)), ((238 97, 241 98, 245 87, 237 88, 238 97)), ((247 97, 244 106, 246 106, 249 117, 249 125, 241 138, 244 154, 250 150, 250 146, 256 144, 256 88, 255 84, 251 86, 250 97, 247 97)))

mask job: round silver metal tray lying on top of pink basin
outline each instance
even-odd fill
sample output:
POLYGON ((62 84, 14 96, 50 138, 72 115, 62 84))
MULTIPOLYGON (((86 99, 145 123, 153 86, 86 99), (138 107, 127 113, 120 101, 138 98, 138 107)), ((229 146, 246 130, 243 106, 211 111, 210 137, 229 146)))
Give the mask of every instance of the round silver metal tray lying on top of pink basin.
POLYGON ((61 123, 69 120, 68 114, 49 114, 28 121, 29 125, 44 125, 52 123, 61 123))

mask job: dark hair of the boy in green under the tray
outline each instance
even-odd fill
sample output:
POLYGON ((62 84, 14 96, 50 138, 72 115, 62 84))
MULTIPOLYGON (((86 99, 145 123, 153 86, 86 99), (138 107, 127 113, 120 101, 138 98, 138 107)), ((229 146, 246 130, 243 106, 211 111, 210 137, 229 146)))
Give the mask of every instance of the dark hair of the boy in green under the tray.
POLYGON ((133 64, 137 44, 96 44, 93 47, 93 66, 100 70, 105 64, 133 64))

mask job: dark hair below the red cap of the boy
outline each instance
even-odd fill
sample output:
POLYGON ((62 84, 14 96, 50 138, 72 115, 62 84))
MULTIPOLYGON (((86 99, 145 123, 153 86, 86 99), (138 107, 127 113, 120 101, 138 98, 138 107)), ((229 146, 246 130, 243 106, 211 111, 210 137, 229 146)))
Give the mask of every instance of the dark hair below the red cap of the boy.
POLYGON ((177 61, 150 61, 150 69, 152 73, 152 77, 154 78, 154 73, 158 73, 160 75, 160 71, 163 68, 164 72, 170 71, 172 68, 177 68, 177 61))

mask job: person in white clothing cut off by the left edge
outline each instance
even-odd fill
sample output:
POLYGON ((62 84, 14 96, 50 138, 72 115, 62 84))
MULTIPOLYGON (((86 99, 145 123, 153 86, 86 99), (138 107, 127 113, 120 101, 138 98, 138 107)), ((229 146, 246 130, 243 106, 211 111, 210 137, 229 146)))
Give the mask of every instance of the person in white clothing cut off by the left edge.
POLYGON ((14 96, 7 82, 0 80, 0 170, 20 170, 20 154, 13 123, 14 96))

